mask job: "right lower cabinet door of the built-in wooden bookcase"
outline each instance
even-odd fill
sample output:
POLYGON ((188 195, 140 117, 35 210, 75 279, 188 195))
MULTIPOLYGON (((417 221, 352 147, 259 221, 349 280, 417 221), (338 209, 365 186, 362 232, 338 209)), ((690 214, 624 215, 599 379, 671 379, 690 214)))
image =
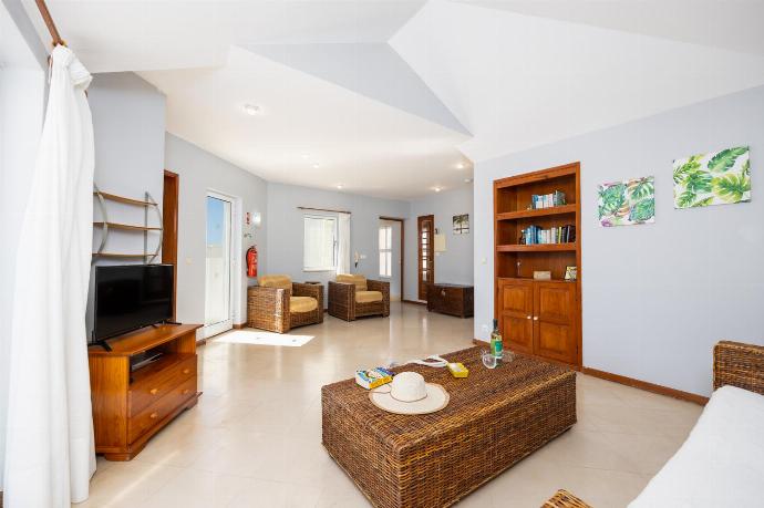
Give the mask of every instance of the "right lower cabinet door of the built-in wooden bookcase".
POLYGON ((576 363, 576 282, 537 281, 534 300, 534 353, 576 363))

